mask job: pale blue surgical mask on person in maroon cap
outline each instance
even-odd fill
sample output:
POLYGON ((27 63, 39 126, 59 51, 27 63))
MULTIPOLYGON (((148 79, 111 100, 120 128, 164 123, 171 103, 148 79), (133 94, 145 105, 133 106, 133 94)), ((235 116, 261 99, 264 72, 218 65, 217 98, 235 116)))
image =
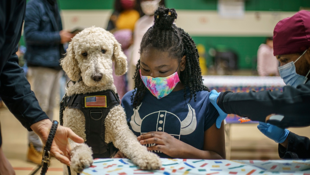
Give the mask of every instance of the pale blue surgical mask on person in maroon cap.
MULTIPOLYGON (((307 50, 305 52, 303 52, 303 54, 305 54, 306 52, 307 52, 307 50)), ((303 56, 303 54, 301 56, 303 56)), ((299 56, 299 58, 301 56, 299 56)), ((296 61, 298 61, 299 58, 297 58, 296 61)), ((286 65, 278 67, 280 76, 283 79, 284 83, 286 85, 290 85, 293 87, 297 87, 299 84, 306 83, 306 81, 308 79, 307 76, 310 72, 310 70, 309 70, 309 72, 306 76, 302 76, 302 75, 297 74, 296 73, 296 67, 294 64, 294 63, 296 63, 296 61, 295 62, 292 61, 286 65)))

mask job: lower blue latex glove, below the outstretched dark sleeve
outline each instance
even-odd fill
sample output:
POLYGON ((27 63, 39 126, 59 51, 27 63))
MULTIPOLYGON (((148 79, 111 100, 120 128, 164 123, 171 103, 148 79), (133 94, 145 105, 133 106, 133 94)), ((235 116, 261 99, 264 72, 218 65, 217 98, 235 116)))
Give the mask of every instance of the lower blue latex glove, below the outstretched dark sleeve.
POLYGON ((289 135, 290 131, 287 129, 282 129, 269 123, 259 122, 257 128, 268 138, 274 140, 277 143, 282 143, 285 141, 286 137, 289 135))

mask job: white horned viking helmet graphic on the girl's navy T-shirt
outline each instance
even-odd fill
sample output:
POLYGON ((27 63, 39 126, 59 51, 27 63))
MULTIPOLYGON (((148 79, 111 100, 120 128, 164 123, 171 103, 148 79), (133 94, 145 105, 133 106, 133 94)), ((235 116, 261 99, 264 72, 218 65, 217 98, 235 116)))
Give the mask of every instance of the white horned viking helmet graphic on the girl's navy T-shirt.
MULTIPOLYGON (((192 133, 193 131, 195 131, 196 129, 196 125, 197 125, 197 119, 196 119, 196 113, 195 110, 192 108, 191 105, 188 105, 188 114, 186 116, 186 118, 181 121, 179 119, 179 117, 171 112, 168 111, 157 111, 157 112, 153 112, 151 114, 148 114, 146 116, 143 117, 143 119, 141 119, 140 114, 139 114, 139 109, 141 107, 142 103, 138 106, 137 109, 133 109, 134 110, 134 114, 131 116, 131 127, 135 132, 140 132, 141 134, 145 133, 145 132, 141 132, 141 125, 143 124, 143 120, 146 119, 147 117, 151 116, 158 116, 157 119, 157 126, 158 125, 162 125, 163 127, 157 127, 156 126, 156 131, 162 131, 165 132, 165 127, 174 127, 174 126, 169 126, 169 124, 167 124, 168 122, 166 121, 166 115, 170 115, 170 117, 175 117, 179 120, 180 122, 180 132, 179 134, 173 134, 173 133, 168 133, 170 135, 174 135, 175 137, 180 137, 180 135, 188 135, 190 133, 192 133)), ((153 124, 153 123, 152 123, 153 124)), ((154 123, 156 124, 156 123, 154 123)))

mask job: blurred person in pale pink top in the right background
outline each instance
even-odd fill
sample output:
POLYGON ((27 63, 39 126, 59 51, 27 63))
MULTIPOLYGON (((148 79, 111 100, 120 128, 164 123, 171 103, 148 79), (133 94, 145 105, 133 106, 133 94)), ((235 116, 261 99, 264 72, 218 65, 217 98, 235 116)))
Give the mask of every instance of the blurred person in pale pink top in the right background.
POLYGON ((273 37, 266 38, 257 51, 257 71, 260 76, 279 76, 279 61, 273 56, 273 37))

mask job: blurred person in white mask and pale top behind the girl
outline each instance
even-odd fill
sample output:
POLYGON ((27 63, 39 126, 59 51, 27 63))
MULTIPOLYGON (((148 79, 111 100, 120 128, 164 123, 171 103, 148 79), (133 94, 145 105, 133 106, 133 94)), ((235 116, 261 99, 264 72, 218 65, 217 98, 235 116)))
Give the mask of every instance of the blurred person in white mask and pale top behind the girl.
POLYGON ((141 10, 145 14, 135 23, 133 45, 132 45, 132 55, 131 60, 128 64, 128 91, 134 89, 135 82, 133 77, 135 74, 136 64, 140 59, 140 43, 145 32, 154 23, 154 12, 161 5, 165 5, 164 0, 140 0, 141 10))

